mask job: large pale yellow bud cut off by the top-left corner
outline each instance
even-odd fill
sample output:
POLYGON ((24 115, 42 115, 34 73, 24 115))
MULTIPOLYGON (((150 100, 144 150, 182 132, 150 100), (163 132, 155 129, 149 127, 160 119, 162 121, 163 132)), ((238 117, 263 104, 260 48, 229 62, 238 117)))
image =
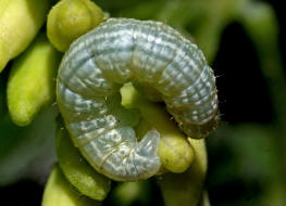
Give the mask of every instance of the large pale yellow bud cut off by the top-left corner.
POLYGON ((50 4, 50 0, 0 1, 0 72, 34 39, 50 4))

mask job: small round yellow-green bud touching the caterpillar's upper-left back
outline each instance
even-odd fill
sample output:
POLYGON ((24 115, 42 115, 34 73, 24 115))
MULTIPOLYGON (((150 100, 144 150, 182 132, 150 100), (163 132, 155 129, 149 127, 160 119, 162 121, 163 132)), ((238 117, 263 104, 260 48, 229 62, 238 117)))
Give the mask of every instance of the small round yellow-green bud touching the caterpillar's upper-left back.
POLYGON ((64 52, 76 38, 103 20, 104 13, 90 0, 62 0, 48 15, 48 38, 59 51, 64 52))

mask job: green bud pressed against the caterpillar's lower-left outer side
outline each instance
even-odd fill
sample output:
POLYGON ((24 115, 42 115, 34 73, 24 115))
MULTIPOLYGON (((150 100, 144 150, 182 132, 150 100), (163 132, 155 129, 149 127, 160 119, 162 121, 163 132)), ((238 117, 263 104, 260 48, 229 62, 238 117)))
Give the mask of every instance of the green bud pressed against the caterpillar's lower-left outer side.
POLYGON ((111 181, 98 173, 74 147, 65 129, 58 129, 57 154, 66 179, 84 195, 102 201, 110 191, 111 181))

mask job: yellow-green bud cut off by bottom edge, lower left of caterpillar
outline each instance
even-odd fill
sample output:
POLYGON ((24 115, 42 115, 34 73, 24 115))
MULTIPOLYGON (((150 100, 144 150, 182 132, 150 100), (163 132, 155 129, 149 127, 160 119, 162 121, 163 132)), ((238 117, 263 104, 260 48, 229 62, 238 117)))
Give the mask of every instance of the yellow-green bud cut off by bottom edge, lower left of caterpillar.
POLYGON ((90 199, 66 181, 59 166, 55 166, 45 189, 41 206, 99 206, 100 202, 90 199))

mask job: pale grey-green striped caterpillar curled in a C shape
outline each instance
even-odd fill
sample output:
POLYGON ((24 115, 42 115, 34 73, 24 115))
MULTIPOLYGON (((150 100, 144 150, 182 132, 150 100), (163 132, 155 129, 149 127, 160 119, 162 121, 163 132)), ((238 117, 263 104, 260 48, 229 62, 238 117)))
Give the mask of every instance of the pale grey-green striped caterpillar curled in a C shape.
POLYGON ((74 144, 113 180, 147 179, 161 165, 160 133, 151 129, 138 142, 138 119, 121 106, 119 90, 126 82, 158 93, 191 138, 217 125, 215 77, 196 44, 160 22, 109 18, 64 54, 57 101, 74 144))

